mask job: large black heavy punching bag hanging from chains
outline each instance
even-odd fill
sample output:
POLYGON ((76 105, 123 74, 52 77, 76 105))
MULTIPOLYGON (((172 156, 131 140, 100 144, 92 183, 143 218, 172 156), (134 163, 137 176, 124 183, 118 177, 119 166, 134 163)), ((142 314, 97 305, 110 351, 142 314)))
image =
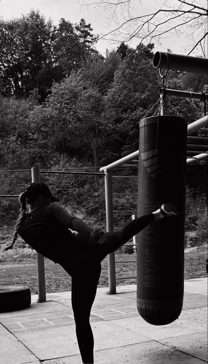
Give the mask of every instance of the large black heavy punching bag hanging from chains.
POLYGON ((173 203, 179 216, 159 219, 137 235, 137 309, 152 325, 179 317, 184 293, 187 123, 177 116, 140 121, 138 217, 173 203))

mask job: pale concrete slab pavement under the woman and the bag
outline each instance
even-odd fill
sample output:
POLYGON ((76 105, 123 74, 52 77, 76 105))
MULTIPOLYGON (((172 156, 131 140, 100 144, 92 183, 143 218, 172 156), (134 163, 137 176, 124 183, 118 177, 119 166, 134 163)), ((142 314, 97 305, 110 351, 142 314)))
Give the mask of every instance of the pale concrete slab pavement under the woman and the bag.
MULTIPOLYGON (((207 278, 185 281, 178 320, 146 323, 137 312, 136 285, 117 294, 98 288, 91 312, 95 364, 202 364, 207 359, 207 278)), ((84 305, 84 297, 83 297, 84 305)), ((0 313, 0 364, 81 364, 71 292, 47 294, 28 309, 0 313)))

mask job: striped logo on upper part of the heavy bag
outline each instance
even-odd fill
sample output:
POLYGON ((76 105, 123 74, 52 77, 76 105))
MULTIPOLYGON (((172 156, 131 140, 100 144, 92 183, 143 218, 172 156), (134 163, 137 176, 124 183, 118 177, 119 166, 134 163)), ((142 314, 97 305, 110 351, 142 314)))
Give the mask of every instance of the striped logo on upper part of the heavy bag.
POLYGON ((152 149, 148 152, 140 153, 140 155, 150 177, 156 177, 164 171, 165 156, 163 148, 152 149))

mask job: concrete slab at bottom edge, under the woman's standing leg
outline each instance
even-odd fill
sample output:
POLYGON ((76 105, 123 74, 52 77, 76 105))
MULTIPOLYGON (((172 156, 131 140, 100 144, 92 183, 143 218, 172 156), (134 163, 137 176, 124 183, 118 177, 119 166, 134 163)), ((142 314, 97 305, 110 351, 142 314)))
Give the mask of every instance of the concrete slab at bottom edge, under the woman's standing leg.
MULTIPOLYGON (((43 361, 44 364, 80 364, 79 356, 43 361)), ((204 364, 204 360, 149 341, 95 352, 95 364, 204 364)))

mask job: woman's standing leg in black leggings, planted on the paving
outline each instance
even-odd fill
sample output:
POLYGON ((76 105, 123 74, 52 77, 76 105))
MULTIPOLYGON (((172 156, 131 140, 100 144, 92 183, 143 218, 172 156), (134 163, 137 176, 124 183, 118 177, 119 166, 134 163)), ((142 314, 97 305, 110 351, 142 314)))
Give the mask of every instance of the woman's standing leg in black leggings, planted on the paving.
MULTIPOLYGON (((66 265, 61 264, 65 270, 66 265)), ((76 336, 83 363, 93 363, 94 339, 89 322, 95 300, 101 264, 96 257, 86 257, 70 267, 72 277, 72 309, 76 324, 76 336)), ((69 272, 68 272, 69 273, 69 272)))

